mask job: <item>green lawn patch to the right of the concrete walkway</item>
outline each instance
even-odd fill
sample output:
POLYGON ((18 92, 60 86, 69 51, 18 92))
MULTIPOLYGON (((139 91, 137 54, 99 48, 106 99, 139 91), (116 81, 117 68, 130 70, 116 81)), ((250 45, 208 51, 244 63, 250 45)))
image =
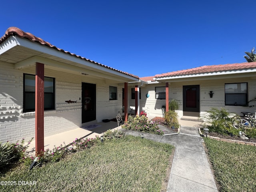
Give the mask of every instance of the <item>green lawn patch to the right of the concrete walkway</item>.
POLYGON ((256 189, 256 147, 204 138, 221 192, 256 189))

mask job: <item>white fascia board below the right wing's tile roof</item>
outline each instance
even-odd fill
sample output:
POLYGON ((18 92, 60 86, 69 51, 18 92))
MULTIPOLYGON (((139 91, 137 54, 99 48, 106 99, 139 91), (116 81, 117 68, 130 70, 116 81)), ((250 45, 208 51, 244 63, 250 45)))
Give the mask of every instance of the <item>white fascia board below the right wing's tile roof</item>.
POLYGON ((232 75, 232 74, 242 74, 256 72, 256 69, 244 69, 244 70, 231 70, 231 71, 222 71, 222 72, 212 72, 212 73, 204 73, 204 74, 189 74, 189 75, 181 75, 181 76, 168 76, 168 77, 156 77, 156 80, 173 80, 173 79, 181 79, 181 78, 192 78, 192 77, 210 77, 210 76, 219 76, 219 75, 232 75))

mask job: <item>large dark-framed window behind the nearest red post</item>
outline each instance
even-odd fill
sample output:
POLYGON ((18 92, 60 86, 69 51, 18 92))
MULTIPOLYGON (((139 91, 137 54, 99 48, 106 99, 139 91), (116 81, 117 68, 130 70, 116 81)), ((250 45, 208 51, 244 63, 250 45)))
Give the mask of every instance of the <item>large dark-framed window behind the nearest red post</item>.
MULTIPOLYGON (((44 110, 55 109, 55 79, 44 77, 44 110)), ((35 111, 36 76, 24 74, 23 78, 23 111, 35 111)))

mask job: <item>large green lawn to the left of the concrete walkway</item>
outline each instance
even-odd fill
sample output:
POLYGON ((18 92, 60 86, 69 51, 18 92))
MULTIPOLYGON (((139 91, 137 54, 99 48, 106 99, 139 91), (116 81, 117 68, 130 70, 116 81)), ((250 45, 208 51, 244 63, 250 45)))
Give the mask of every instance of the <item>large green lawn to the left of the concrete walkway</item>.
POLYGON ((11 170, 1 180, 17 185, 0 191, 161 191, 173 151, 174 146, 140 137, 112 139, 31 171, 11 170), (21 180, 36 185, 18 185, 21 180))

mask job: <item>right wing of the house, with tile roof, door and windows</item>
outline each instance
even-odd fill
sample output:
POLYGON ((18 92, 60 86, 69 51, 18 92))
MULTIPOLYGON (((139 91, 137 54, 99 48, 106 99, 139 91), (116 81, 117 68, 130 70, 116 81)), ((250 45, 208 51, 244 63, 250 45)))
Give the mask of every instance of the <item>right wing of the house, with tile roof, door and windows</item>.
MULTIPOLYGON (((168 106, 171 99, 180 102, 177 112, 184 119, 202 116, 212 107, 224 107, 238 115, 255 113, 255 107, 245 106, 256 98, 256 62, 202 66, 140 80, 140 110, 150 116, 162 116, 162 106, 168 106)), ((131 97, 129 104, 135 105, 131 97)))

